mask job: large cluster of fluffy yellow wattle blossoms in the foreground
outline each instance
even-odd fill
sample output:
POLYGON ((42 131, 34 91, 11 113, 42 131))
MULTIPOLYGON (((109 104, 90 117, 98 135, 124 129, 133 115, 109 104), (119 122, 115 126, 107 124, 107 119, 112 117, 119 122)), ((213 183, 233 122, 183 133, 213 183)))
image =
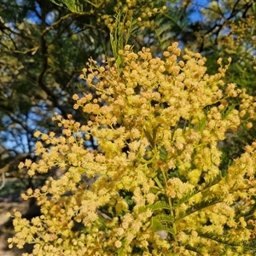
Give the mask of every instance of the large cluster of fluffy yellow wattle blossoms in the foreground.
POLYGON ((189 50, 181 56, 177 43, 162 58, 130 45, 119 54, 122 73, 111 60, 84 69, 95 93, 73 100, 89 116, 86 124, 56 114, 60 137, 35 132, 41 160, 20 168, 32 176, 59 167, 63 175, 23 195, 38 199, 42 216, 29 223, 15 213, 10 247, 34 243, 26 256, 251 255, 243 244, 256 226, 256 212, 246 217, 255 204, 256 142, 226 174, 218 143, 241 122, 250 128, 254 98, 224 84, 229 65, 219 60, 209 75, 206 59, 189 50), (97 151, 85 147, 90 137, 97 151), (95 183, 84 183, 84 175, 95 183))

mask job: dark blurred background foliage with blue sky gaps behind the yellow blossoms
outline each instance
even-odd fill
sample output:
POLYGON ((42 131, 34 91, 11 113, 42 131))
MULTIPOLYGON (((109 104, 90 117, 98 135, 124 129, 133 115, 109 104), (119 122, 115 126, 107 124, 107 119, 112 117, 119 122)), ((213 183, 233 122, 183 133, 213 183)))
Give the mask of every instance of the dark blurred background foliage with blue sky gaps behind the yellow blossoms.
MULTIPOLYGON (((112 55, 111 19, 118 7, 125 4, 125 1, 92 1, 94 5, 87 1, 52 2, 0 1, 0 173, 7 178, 0 195, 9 195, 11 188, 15 188, 13 193, 19 193, 44 182, 46 175, 30 179, 26 172, 18 172, 16 166, 25 157, 35 160, 32 154, 35 130, 60 132, 51 121, 55 112, 64 117, 73 113, 75 119, 86 122, 83 113, 73 111, 73 94, 89 90, 79 74, 90 57, 101 63, 112 55)), ((151 15, 148 15, 153 8, 150 1, 138 3, 132 7, 132 19, 148 21, 136 23, 129 44, 136 49, 148 46, 159 55, 178 41, 183 48, 207 56, 208 73, 216 71, 219 57, 226 60, 231 56, 233 62, 226 81, 236 82, 255 94, 253 0, 159 0, 153 3, 157 7, 165 5, 165 11, 151 15)), ((126 19, 131 19, 130 13, 126 19)), ((232 145, 230 151, 226 149, 225 157, 235 157, 234 152, 241 154, 242 145, 252 141, 254 134, 255 131, 248 133, 242 128, 236 140, 224 143, 225 148, 232 145)))

